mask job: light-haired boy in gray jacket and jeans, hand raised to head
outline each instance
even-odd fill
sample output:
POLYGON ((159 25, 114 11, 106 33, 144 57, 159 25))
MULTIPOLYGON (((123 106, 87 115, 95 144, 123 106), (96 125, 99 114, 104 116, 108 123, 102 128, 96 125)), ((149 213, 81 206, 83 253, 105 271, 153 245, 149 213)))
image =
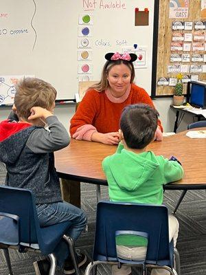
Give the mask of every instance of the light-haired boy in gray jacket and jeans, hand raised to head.
MULTIPOLYGON (((80 208, 62 201, 54 151, 69 144, 69 135, 53 114, 55 99, 56 89, 43 80, 24 78, 17 83, 14 113, 0 124, 0 160, 8 171, 5 184, 34 192, 40 225, 71 221, 66 234, 75 241, 87 225, 87 217, 80 208)), ((57 264, 64 264, 65 274, 75 272, 65 241, 54 254, 57 264)), ((87 260, 83 254, 77 258, 79 266, 87 260)), ((34 263, 37 275, 49 274, 49 267, 47 259, 34 263)))

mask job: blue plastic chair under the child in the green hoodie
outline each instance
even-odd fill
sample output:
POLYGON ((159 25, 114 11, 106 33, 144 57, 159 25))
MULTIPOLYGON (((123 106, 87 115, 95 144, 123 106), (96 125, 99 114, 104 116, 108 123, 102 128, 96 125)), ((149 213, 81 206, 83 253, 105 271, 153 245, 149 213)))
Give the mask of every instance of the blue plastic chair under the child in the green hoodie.
MULTIPOLYGON (((147 268, 163 268, 171 274, 180 274, 179 254, 175 251, 176 273, 174 270, 174 246, 169 243, 168 208, 139 203, 98 203, 95 242, 92 262, 85 275, 96 272, 98 264, 141 265, 144 273, 147 268), (146 258, 141 261, 120 259, 117 256, 115 235, 148 235, 146 258)), ((94 274, 94 273, 93 273, 94 274)))

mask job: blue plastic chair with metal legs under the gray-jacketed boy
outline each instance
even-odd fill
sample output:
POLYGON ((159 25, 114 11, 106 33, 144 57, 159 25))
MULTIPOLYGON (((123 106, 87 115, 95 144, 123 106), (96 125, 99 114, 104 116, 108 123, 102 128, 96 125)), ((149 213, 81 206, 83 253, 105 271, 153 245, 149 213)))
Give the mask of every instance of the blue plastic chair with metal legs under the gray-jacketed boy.
POLYGON ((43 255, 49 256, 49 275, 54 275, 56 257, 53 252, 62 238, 69 245, 73 265, 79 275, 73 240, 65 235, 70 226, 71 222, 67 221, 41 228, 32 191, 0 186, 0 249, 4 251, 10 275, 13 272, 8 248, 19 249, 19 252, 40 250, 43 255))

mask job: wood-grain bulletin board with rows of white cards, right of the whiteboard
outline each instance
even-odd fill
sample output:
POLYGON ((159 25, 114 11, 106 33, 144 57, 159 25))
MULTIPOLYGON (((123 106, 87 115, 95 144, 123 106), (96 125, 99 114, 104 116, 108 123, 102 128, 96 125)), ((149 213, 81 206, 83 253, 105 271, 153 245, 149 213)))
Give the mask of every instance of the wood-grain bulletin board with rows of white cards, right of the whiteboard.
MULTIPOLYGON (((205 72, 198 72, 199 69, 201 69, 201 66, 203 66, 203 71, 205 70, 205 34, 206 30, 202 26, 203 29, 196 30, 195 25, 197 25, 197 22, 202 22, 203 25, 206 26, 206 6, 205 9, 203 5, 206 5, 206 1, 201 0, 160 0, 159 1, 159 32, 158 32, 158 48, 157 48, 157 78, 156 78, 156 89, 154 94, 152 96, 156 97, 162 97, 162 96, 172 96, 174 94, 174 86, 169 85, 157 85, 159 80, 168 81, 170 78, 176 78, 176 75, 179 74, 179 72, 168 72, 168 66, 170 66, 170 69, 174 67, 178 67, 183 65, 183 69, 185 68, 184 65, 188 65, 188 72, 181 72, 183 74, 183 78, 185 78, 185 82, 183 83, 183 92, 186 94, 186 88, 187 88, 187 81, 190 80, 191 77, 195 77, 198 79, 192 79, 192 80, 206 80, 206 73, 205 72), (202 8, 201 8, 202 4, 202 8), (170 12, 172 10, 171 7, 179 6, 181 5, 185 6, 185 8, 177 8, 173 11, 173 16, 177 16, 178 18, 169 18, 170 12), (187 10, 188 8, 188 10, 187 10), (185 12, 188 12, 187 18, 185 17, 185 12), (172 30, 172 23, 173 25, 179 25, 179 22, 181 22, 183 25, 186 25, 188 27, 188 24, 185 22, 192 22, 192 30, 186 29, 175 29, 173 27, 172 30), (197 32, 202 32, 203 36, 201 40, 198 40, 196 36, 198 36, 197 32), (175 40, 174 36, 179 36, 177 39, 185 39, 188 36, 186 41, 172 41, 175 40), (194 39, 194 37, 196 37, 194 39), (191 41, 187 41, 191 40, 191 41), (171 50, 171 45, 174 43, 173 50, 171 50), (184 49, 179 50, 175 47, 175 44, 182 45, 184 43, 191 44, 189 47, 191 49, 184 49), (195 47, 193 43, 199 43, 203 45, 202 50, 199 50, 198 47, 195 47), (178 59, 174 59, 174 61, 171 61, 171 56, 181 56, 181 59, 178 61, 178 59), (187 60, 183 60, 184 58, 188 58, 187 60), (191 69, 192 68, 192 69, 191 69)), ((201 23, 199 23, 201 24, 201 23)), ((206 36, 205 36, 206 37, 206 36)), ((182 45, 183 46, 183 45, 182 45)), ((186 47, 188 45, 185 45, 186 47)))

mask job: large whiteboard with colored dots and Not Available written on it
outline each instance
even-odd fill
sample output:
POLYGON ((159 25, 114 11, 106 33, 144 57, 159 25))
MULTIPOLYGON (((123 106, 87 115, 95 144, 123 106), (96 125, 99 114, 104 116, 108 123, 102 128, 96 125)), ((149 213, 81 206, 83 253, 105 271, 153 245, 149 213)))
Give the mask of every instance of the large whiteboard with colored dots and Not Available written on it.
POLYGON ((74 98, 79 81, 100 79, 106 52, 133 51, 134 45, 139 54, 135 83, 151 94, 157 2, 1 0, 1 104, 12 103, 14 78, 24 75, 52 83, 57 99, 74 98))

